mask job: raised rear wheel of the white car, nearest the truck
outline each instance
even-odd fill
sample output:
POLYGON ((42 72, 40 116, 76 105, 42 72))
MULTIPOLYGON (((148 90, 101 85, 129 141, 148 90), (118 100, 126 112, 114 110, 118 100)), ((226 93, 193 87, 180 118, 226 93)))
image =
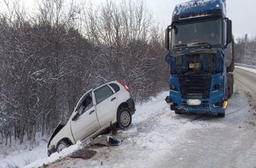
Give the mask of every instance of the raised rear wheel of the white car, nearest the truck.
POLYGON ((131 111, 129 108, 121 108, 118 111, 118 126, 122 129, 128 128, 131 124, 131 111))

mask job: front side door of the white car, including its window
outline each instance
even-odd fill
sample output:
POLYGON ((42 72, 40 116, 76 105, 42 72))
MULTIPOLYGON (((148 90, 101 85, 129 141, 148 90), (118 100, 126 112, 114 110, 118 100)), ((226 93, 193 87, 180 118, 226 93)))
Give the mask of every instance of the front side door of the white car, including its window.
POLYGON ((76 107, 77 118, 71 120, 71 131, 76 141, 83 141, 90 134, 99 130, 96 116, 96 106, 93 103, 92 92, 86 94, 76 107))

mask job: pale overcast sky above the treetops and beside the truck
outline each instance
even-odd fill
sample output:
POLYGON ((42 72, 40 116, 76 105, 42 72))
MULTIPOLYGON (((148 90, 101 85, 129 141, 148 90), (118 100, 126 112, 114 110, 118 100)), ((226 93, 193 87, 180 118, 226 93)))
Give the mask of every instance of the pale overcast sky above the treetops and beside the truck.
MULTIPOLYGON (((1 0, 0 0, 1 1, 1 0)), ((22 1, 22 0, 21 0, 22 1)), ((35 1, 23 0, 25 6, 33 8, 35 1)), ((80 0, 74 0, 80 1, 80 0)), ((91 0, 99 5, 106 0, 91 0)), ((121 1, 121 0, 114 0, 121 1)), ((136 0, 135 0, 136 1, 136 0)), ((171 15, 176 4, 187 2, 188 0, 144 0, 147 8, 154 13, 154 18, 160 21, 160 25, 167 27, 171 22, 171 15)), ((228 18, 233 22, 233 34, 235 37, 256 37, 256 1, 255 0, 227 0, 228 18)))

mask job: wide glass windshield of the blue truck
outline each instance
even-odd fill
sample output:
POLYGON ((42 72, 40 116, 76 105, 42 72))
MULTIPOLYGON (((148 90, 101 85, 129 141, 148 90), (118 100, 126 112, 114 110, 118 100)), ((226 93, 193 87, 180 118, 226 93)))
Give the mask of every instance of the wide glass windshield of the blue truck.
POLYGON ((220 44, 222 44, 222 20, 220 18, 173 24, 173 48, 220 44))

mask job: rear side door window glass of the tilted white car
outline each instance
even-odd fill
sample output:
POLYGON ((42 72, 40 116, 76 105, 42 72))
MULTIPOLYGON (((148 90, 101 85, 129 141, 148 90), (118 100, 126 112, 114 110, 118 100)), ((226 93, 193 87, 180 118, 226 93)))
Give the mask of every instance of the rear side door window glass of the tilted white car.
POLYGON ((94 94, 96 97, 96 104, 98 105, 100 102, 103 102, 105 99, 108 99, 111 95, 113 95, 113 92, 109 86, 102 86, 94 91, 94 94))

